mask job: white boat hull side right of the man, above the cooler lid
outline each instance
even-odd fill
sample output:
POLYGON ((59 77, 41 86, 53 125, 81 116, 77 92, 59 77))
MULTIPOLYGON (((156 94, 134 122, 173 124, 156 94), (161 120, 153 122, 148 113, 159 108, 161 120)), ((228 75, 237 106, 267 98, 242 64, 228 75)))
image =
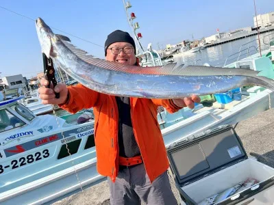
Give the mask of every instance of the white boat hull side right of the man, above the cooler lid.
POLYGON ((273 107, 274 93, 270 90, 264 90, 252 98, 243 99, 238 105, 228 110, 203 107, 201 111, 195 111, 191 118, 162 129, 164 143, 169 146, 183 137, 190 137, 209 128, 222 124, 236 124, 273 107))

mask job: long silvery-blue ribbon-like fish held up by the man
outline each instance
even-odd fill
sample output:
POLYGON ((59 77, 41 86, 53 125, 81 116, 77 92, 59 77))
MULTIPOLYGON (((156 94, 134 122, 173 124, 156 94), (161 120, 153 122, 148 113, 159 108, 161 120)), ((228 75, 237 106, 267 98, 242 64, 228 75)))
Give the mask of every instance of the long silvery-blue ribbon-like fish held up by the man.
POLYGON ((243 85, 260 85, 274 91, 274 81, 242 68, 210 66, 165 66, 142 68, 105 61, 88 55, 71 44, 66 36, 53 33, 45 22, 36 20, 42 53, 53 64, 82 85, 114 96, 138 98, 183 98, 226 92, 243 85))

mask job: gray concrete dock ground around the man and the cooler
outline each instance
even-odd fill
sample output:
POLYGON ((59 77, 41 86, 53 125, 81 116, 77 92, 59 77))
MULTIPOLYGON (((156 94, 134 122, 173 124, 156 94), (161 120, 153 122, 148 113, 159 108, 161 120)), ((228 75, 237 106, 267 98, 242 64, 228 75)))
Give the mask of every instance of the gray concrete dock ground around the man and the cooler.
MULTIPOLYGON (((254 152, 267 156, 274 160, 274 109, 269 109, 258 115, 239 122, 236 125, 236 133, 240 136, 247 154, 254 152)), ((263 162, 263 161, 262 161, 263 162)), ((274 163, 265 162, 267 165, 274 167, 274 163)), ((179 202, 179 194, 175 188, 173 178, 170 178, 173 193, 179 202)), ((103 181, 93 187, 84 189, 83 192, 75 193, 64 198, 54 205, 106 205, 109 202, 110 191, 108 183, 103 181)))

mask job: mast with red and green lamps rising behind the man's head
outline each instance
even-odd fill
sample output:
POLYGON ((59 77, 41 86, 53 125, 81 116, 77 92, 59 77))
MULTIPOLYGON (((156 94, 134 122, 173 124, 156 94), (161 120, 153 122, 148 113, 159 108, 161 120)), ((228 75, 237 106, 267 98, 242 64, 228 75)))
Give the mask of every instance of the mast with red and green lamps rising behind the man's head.
POLYGON ((132 31, 134 33, 134 41, 136 44, 136 55, 139 55, 139 49, 142 50, 142 52, 145 52, 144 49, 142 49, 142 45, 140 43, 140 38, 142 38, 142 33, 136 33, 136 29, 139 29, 139 24, 138 22, 134 23, 134 18, 136 18, 135 14, 132 12, 129 15, 129 8, 132 7, 132 5, 130 4, 129 1, 125 2, 125 0, 123 0, 123 4, 124 4, 124 8, 125 8, 125 14, 127 15, 127 21, 129 23, 129 26, 132 28, 132 31), (138 47, 137 47, 138 46, 138 47))

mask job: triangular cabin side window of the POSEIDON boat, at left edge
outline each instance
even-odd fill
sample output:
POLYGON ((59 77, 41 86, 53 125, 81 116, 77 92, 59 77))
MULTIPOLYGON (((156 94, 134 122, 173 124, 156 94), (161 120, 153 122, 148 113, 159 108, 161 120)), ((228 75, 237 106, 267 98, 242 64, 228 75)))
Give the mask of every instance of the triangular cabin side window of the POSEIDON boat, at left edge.
POLYGON ((0 132, 9 131, 23 125, 25 125, 25 122, 10 113, 7 109, 0 110, 0 132))

